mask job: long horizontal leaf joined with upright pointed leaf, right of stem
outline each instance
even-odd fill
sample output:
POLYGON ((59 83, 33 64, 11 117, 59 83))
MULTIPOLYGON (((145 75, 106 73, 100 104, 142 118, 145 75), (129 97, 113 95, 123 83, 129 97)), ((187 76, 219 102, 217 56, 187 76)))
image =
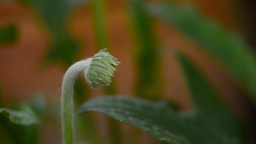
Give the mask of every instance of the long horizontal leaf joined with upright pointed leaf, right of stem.
POLYGON ((190 112, 177 111, 167 101, 103 96, 86 101, 79 113, 104 113, 169 144, 243 144, 240 123, 219 101, 198 69, 184 56, 178 57, 195 104, 190 112))

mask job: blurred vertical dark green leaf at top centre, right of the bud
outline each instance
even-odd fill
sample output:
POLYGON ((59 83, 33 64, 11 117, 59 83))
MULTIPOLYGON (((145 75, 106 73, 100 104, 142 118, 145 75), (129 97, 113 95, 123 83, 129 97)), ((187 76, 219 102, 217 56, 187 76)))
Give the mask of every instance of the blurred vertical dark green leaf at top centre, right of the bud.
POLYGON ((132 0, 131 12, 136 38, 136 95, 155 99, 161 95, 162 85, 156 37, 144 8, 144 0, 132 0))

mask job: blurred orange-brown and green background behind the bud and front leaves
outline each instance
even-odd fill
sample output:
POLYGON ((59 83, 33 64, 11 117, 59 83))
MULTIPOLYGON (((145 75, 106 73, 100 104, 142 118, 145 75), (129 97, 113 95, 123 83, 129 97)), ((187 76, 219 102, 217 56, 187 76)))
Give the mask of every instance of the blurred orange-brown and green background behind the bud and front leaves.
MULTIPOLYGON (((75 61, 108 48, 121 61, 112 86, 91 89, 83 77, 78 78, 77 107, 86 99, 115 94, 167 99, 187 111, 193 105, 175 57, 179 52, 197 64, 221 101, 243 121, 248 137, 255 139, 255 4, 254 0, 0 0, 1 106, 37 101, 42 123, 32 143, 60 143, 64 72, 75 61)), ((160 143, 101 114, 76 119, 81 144, 160 143)), ((0 131, 5 133, 4 128, 0 131)), ((8 133, 2 135, 1 144, 15 144, 8 133)))

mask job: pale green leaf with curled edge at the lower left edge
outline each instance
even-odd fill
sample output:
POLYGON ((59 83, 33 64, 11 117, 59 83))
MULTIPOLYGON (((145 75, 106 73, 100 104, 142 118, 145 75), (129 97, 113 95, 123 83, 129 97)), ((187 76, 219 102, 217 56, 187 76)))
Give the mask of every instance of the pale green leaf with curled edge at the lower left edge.
POLYGON ((21 110, 1 108, 0 115, 4 115, 12 123, 20 125, 32 125, 40 123, 40 120, 29 107, 22 107, 21 110))

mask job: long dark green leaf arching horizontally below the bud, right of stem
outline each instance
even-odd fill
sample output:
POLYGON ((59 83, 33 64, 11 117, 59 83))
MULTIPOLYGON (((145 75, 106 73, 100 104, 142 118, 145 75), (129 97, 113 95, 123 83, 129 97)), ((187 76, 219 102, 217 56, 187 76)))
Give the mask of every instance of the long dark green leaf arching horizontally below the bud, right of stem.
POLYGON ((179 112, 166 101, 103 96, 86 101, 83 112, 101 112, 169 144, 241 144, 240 137, 219 131, 218 123, 200 112, 179 112))

